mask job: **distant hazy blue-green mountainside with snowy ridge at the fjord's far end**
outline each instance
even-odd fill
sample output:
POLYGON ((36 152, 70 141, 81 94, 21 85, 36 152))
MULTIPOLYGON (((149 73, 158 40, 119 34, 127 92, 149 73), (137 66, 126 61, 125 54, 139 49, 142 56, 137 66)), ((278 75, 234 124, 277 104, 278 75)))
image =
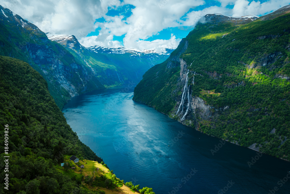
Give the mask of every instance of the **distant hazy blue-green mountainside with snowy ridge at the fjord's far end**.
POLYGON ((75 58, 89 66, 105 86, 138 83, 142 75, 157 63, 169 57, 167 53, 154 51, 139 52, 126 48, 106 48, 82 46, 74 35, 53 35, 47 33, 50 40, 58 42, 68 49, 75 58))

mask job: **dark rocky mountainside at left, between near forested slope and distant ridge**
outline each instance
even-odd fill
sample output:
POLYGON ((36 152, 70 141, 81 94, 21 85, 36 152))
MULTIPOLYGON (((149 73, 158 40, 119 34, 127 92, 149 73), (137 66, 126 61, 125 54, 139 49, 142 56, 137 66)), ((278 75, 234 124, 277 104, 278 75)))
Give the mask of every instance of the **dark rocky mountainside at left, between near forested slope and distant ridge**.
POLYGON ((48 81, 57 105, 80 93, 105 88, 92 70, 77 61, 64 47, 9 9, 0 6, 0 54, 29 63, 48 81))

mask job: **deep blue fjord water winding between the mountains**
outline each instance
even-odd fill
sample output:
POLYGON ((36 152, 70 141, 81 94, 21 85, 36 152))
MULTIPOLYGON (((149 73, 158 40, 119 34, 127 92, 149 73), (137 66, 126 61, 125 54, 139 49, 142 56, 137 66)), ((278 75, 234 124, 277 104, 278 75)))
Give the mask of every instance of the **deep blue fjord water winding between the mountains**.
POLYGON ((110 88, 74 97, 63 109, 79 139, 121 180, 156 194, 289 193, 289 162, 221 142, 132 97, 133 88, 110 88))

